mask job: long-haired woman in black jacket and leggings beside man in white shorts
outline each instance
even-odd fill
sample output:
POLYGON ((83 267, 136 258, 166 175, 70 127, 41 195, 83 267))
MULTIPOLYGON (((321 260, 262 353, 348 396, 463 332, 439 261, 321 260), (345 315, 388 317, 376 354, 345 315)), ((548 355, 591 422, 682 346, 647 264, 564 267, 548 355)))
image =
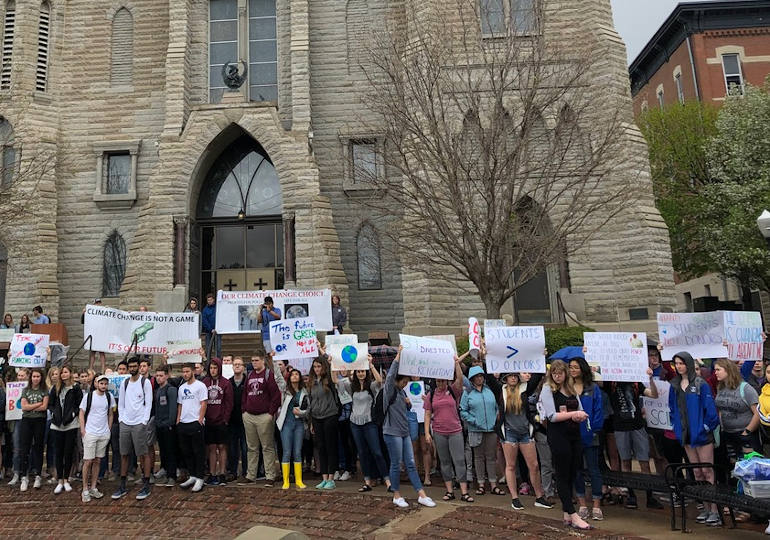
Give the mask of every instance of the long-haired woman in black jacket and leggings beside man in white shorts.
POLYGON ((79 407, 83 400, 83 391, 75 384, 72 370, 62 366, 59 380, 49 394, 48 408, 53 418, 51 420, 51 435, 56 448, 56 480, 54 494, 62 491, 69 493, 72 486, 69 483, 69 473, 72 470, 72 458, 75 451, 76 439, 80 429, 79 407))

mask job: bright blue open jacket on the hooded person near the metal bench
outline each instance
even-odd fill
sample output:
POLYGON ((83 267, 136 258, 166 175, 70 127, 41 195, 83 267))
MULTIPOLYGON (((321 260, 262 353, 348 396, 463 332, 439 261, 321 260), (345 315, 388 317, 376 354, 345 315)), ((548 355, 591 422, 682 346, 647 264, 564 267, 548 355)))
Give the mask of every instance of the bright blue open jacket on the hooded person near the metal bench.
POLYGON ((711 395, 711 387, 700 377, 696 381, 699 381, 699 386, 690 384, 685 392, 686 411, 679 410, 677 396, 682 389, 674 383, 671 384, 671 391, 668 394, 668 407, 671 410, 671 424, 674 426, 677 440, 681 444, 703 446, 710 442, 708 434, 719 425, 719 414, 714 404, 714 396, 711 395), (689 427, 687 441, 682 440, 683 419, 689 427))

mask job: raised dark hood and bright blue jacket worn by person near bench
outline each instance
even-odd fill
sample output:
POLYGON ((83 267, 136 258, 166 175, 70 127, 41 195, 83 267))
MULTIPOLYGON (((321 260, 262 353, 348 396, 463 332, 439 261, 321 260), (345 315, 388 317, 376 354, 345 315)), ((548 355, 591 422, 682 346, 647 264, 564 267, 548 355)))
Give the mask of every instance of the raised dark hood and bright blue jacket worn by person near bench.
POLYGON ((671 410, 671 424, 681 444, 704 446, 712 442, 711 432, 719 425, 719 414, 714 404, 711 387, 695 371, 695 360, 686 352, 674 355, 687 365, 689 384, 682 390, 682 377, 677 375, 671 381, 668 406, 671 410))

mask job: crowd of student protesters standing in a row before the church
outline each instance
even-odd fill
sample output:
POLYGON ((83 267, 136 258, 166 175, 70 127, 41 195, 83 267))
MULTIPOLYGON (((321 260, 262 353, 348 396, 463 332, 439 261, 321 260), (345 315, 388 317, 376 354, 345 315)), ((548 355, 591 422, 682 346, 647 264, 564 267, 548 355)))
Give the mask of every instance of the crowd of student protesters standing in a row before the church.
MULTIPOLYGON (((266 299, 260 324, 280 317, 266 299)), ((319 342, 303 374, 273 359, 269 339, 249 358, 223 357, 212 322, 203 317, 203 332, 214 340, 210 361, 164 360, 153 369, 150 357, 123 360, 116 371, 129 377, 117 399, 108 389, 111 369, 7 372, 8 380, 28 381, 22 419, 0 422, 8 484, 27 491, 45 482, 58 495, 72 491, 77 479, 88 502, 101 498, 99 486, 113 478, 113 499, 126 496, 133 481, 141 500, 153 484, 192 492, 257 482, 305 489, 313 475, 316 489, 333 490, 358 477, 358 491, 382 486, 394 505, 406 508, 405 472, 424 506, 435 506, 425 487, 440 476, 444 501, 455 500, 458 490, 468 504, 507 495, 522 510, 523 496, 540 508, 552 508, 558 497, 564 524, 589 529, 608 506, 640 504, 632 489, 603 484, 605 467, 663 474, 667 463, 716 461, 729 471, 731 462, 763 453, 770 442, 763 432, 770 427, 770 366, 761 362, 709 364, 686 352, 664 362, 651 346, 648 384, 601 382, 581 355, 551 361, 544 374, 488 373, 482 347, 455 358, 452 380, 422 381, 419 422, 405 391, 419 378, 399 374, 400 349, 387 370, 370 356, 368 370, 333 371, 319 342), (232 364, 229 378, 223 358, 232 364), (650 428, 645 419, 643 398, 658 397, 658 381, 670 383, 672 429, 650 428)), ((708 468, 694 474, 710 483, 731 481, 708 468)), ((652 492, 645 505, 663 508, 652 492)), ((696 521, 719 526, 724 510, 706 504, 696 521)))

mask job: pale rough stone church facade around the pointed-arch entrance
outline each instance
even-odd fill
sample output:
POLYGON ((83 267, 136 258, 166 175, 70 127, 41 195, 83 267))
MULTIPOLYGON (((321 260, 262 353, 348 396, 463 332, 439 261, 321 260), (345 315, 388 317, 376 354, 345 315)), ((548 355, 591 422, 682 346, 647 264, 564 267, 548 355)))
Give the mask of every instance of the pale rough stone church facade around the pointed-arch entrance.
MULTIPOLYGON (((483 315, 477 298, 389 255, 350 167, 382 144, 356 127, 359 45, 375 18, 403 5, 0 0, 6 146, 22 164, 50 163, 29 212, 0 230, 4 311, 18 320, 42 304, 71 339, 95 297, 170 311, 222 288, 329 287, 362 334, 442 333, 483 315), (222 67, 236 61, 248 74, 231 92, 222 67)), ((563 322, 566 309, 638 328, 674 299, 625 48, 609 0, 550 0, 545 14, 554 36, 589 39, 603 55, 597 95, 627 99, 622 171, 639 196, 506 309, 522 322, 563 322)))

